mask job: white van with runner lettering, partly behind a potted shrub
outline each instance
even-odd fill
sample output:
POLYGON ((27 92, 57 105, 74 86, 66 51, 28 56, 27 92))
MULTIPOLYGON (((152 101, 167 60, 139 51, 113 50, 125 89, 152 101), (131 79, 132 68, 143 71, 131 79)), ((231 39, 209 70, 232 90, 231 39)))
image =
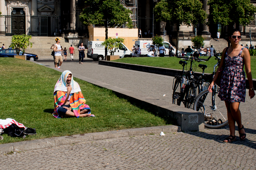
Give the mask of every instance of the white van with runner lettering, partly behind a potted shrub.
MULTIPOLYGON (((88 41, 87 46, 87 57, 93 59, 94 61, 99 61, 105 59, 105 47, 101 45, 103 41, 88 41)), ((109 51, 108 54, 110 55, 109 51)), ((130 51, 123 43, 116 49, 114 55, 119 55, 120 58, 132 57, 132 51, 130 51)))

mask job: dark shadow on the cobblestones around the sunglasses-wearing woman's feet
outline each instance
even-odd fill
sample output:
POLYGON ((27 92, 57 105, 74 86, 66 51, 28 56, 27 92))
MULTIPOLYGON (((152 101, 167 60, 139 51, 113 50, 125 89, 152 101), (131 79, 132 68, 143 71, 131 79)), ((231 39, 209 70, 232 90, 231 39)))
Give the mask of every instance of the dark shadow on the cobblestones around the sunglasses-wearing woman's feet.
MULTIPOLYGON (((229 127, 225 126, 222 129, 227 129, 229 131, 229 127)), ((205 139, 211 139, 211 140, 215 140, 216 142, 219 143, 223 143, 225 144, 225 142, 223 142, 223 140, 225 138, 227 138, 229 136, 229 132, 227 134, 223 134, 223 135, 216 135, 216 134, 210 134, 210 133, 206 133, 206 132, 184 132, 190 135, 194 135, 200 138, 205 138, 205 139)), ((245 128, 245 133, 246 134, 256 134, 256 130, 255 129, 250 129, 250 128, 245 128)), ((240 140, 239 139, 239 134, 238 134, 238 127, 236 126, 236 140, 232 141, 232 144, 236 144, 236 145, 244 145, 247 146, 249 148, 255 149, 256 150, 256 145, 254 140, 252 140, 251 138, 246 137, 246 139, 244 140, 240 140)))

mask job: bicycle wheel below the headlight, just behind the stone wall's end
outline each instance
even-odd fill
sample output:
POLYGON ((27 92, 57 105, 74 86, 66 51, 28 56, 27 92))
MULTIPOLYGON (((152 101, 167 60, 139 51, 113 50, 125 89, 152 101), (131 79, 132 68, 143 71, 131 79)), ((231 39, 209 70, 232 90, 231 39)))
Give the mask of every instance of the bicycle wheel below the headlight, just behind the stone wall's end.
POLYGON ((196 85, 194 83, 189 83, 189 89, 184 100, 184 105, 186 108, 193 109, 193 103, 196 96, 196 85))

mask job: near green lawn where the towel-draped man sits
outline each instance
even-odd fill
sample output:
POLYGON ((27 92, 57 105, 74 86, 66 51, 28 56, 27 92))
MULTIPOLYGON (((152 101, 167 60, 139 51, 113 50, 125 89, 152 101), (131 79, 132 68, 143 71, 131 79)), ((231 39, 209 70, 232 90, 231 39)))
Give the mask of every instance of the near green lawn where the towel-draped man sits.
POLYGON ((2 143, 108 130, 167 125, 166 120, 120 99, 108 89, 74 78, 81 87, 86 104, 96 117, 63 118, 52 116, 54 86, 61 73, 16 58, 0 58, 0 119, 12 118, 37 135, 13 138, 2 135, 2 143))

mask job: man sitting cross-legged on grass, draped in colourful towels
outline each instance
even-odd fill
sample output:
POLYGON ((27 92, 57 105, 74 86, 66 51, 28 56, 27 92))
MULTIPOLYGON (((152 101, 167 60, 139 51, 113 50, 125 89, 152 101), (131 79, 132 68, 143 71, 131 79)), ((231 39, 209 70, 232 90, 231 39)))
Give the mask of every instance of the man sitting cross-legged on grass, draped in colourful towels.
POLYGON ((90 107, 85 104, 80 86, 73 80, 72 73, 64 71, 54 87, 54 113, 56 118, 89 117, 90 107))

